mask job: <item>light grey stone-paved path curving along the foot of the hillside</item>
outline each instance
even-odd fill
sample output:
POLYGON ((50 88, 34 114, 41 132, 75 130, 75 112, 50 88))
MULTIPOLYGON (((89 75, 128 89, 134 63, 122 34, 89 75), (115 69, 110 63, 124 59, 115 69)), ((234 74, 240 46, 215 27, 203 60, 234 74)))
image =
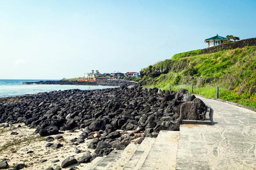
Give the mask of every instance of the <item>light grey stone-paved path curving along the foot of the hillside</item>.
POLYGON ((181 125, 176 170, 256 170, 256 112, 211 99, 214 125, 181 125))

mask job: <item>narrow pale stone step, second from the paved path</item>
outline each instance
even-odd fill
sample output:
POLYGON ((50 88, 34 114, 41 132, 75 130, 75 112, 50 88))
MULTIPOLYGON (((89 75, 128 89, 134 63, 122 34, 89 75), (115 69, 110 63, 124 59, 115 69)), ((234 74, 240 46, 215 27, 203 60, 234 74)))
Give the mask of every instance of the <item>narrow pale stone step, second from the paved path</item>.
POLYGON ((125 164, 123 170, 139 170, 156 138, 145 138, 140 146, 135 151, 131 159, 125 164))

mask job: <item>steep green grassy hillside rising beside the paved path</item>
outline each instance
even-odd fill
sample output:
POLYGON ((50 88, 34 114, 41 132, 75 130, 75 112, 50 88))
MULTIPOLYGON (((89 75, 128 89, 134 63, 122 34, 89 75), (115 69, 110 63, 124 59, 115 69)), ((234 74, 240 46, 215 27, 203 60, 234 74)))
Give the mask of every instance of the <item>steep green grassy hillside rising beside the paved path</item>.
POLYGON ((193 85, 194 94, 214 98, 218 86, 219 98, 256 108, 256 38, 175 54, 140 74, 145 88, 193 85))

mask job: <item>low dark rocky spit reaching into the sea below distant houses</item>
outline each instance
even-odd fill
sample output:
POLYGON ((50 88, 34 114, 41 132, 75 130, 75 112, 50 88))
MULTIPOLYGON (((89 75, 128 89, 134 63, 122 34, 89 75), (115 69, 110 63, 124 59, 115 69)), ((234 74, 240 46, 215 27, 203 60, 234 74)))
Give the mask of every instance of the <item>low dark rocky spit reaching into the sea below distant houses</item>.
POLYGON ((40 84, 40 85, 105 85, 105 86, 121 86, 121 85, 137 85, 136 82, 123 80, 104 80, 96 82, 78 82, 78 81, 39 81, 39 82, 23 82, 23 84, 40 84))

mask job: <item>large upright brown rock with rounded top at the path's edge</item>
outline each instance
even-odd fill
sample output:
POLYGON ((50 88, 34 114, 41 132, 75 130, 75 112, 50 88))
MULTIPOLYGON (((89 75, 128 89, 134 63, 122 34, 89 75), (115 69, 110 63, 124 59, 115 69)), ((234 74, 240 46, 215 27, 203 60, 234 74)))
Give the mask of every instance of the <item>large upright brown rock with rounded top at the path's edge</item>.
POLYGON ((197 103, 185 102, 181 105, 178 122, 181 123, 182 120, 199 120, 197 103))

